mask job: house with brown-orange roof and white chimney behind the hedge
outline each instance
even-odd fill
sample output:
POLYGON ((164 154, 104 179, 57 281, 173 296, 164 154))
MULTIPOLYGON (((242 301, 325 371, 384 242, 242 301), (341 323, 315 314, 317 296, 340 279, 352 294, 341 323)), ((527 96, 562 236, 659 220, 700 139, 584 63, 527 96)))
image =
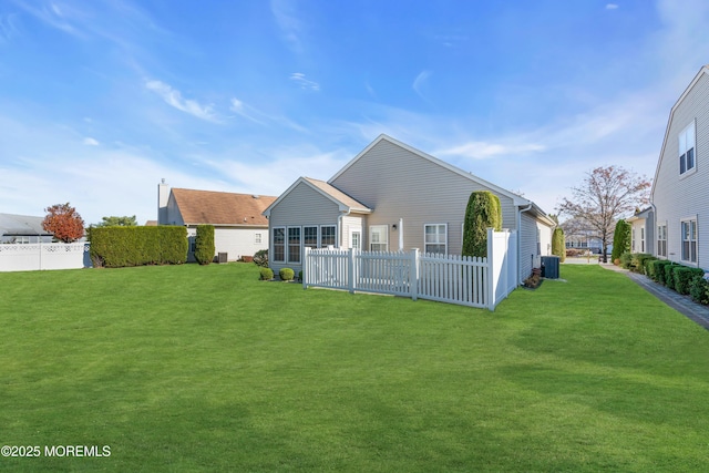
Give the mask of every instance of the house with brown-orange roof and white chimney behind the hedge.
POLYGON ((226 192, 171 189, 164 182, 157 186, 158 225, 187 227, 189 253, 194 261, 197 225, 214 225, 215 256, 227 254, 227 260, 254 256, 268 248, 268 220, 261 215, 276 197, 226 192))

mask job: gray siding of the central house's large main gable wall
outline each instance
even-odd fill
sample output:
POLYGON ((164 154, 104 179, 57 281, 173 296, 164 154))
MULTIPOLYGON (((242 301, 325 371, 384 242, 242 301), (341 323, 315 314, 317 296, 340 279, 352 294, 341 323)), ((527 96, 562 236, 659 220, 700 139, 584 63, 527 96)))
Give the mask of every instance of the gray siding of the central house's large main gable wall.
MULTIPOLYGON (((373 208, 362 228, 369 247, 369 226, 388 225, 389 249, 399 249, 403 218, 404 249, 424 249, 424 224, 448 224, 448 253, 460 254, 462 224, 470 194, 491 191, 429 160, 387 141, 379 142, 331 184, 373 208)), ((503 227, 516 229, 516 212, 510 197, 499 195, 503 227)))

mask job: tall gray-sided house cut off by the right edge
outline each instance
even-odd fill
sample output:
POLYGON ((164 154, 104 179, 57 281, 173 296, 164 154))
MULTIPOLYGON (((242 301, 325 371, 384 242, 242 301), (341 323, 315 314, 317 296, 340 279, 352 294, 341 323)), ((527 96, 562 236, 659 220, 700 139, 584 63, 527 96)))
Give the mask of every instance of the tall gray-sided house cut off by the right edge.
POLYGON ((709 66, 670 110, 650 199, 651 253, 709 268, 709 66))

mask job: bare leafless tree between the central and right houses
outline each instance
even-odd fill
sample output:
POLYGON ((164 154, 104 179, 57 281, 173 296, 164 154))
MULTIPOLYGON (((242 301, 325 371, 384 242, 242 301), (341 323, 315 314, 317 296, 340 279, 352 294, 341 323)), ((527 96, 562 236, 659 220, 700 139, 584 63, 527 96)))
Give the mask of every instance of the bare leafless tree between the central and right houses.
POLYGON ((616 219, 647 205, 649 188, 650 182, 645 176, 623 167, 596 167, 586 173, 580 186, 572 187, 572 199, 564 197, 556 209, 585 223, 593 236, 600 239, 603 260, 608 263, 608 238, 616 219))

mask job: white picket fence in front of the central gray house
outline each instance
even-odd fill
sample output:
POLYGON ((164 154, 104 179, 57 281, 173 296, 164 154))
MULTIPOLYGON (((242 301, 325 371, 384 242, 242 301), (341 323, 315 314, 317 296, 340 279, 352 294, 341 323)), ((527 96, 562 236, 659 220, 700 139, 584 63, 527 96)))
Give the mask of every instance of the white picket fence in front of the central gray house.
POLYGON ((494 310, 517 286, 514 232, 487 232, 487 258, 306 248, 302 285, 494 310))

